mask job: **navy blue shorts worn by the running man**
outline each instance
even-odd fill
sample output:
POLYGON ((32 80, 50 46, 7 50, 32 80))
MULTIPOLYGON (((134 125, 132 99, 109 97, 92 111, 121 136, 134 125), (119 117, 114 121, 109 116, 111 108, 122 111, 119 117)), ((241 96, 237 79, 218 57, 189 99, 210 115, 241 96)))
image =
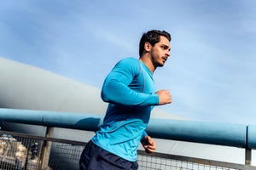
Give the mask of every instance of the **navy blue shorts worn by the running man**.
POLYGON ((137 170, 137 161, 127 161, 103 150, 91 141, 86 144, 79 161, 80 170, 137 170))

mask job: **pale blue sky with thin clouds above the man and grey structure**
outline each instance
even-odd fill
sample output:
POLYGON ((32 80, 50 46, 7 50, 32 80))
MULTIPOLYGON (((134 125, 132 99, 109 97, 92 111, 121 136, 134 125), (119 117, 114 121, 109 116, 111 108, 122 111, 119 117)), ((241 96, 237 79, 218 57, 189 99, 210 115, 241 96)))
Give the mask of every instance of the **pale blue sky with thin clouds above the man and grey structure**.
POLYGON ((154 74, 177 116, 256 124, 256 1, 9 0, 0 3, 0 56, 101 88, 113 65, 138 56, 143 32, 172 34, 154 74))

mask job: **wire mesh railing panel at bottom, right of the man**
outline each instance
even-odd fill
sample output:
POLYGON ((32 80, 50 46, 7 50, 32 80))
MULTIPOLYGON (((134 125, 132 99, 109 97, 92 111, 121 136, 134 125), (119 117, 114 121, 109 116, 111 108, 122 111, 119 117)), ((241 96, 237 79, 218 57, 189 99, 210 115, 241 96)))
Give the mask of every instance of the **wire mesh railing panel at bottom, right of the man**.
POLYGON ((242 164, 212 161, 199 159, 189 156, 175 156, 163 153, 146 154, 143 150, 138 150, 138 163, 140 169, 158 169, 158 170, 238 170, 255 169, 256 167, 242 164))

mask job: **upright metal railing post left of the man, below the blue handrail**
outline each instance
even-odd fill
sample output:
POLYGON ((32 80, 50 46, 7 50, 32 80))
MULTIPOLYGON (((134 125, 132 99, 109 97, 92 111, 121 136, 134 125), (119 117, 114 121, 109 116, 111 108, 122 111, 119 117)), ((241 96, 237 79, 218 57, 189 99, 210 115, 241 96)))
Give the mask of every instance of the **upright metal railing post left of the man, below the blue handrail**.
MULTIPOLYGON (((47 138, 52 137, 53 132, 54 132, 54 127, 46 127, 45 137, 47 138)), ((44 140, 44 144, 42 147, 42 161, 41 161, 41 168, 40 168, 42 170, 48 170, 51 145, 52 145, 52 142, 44 140)))

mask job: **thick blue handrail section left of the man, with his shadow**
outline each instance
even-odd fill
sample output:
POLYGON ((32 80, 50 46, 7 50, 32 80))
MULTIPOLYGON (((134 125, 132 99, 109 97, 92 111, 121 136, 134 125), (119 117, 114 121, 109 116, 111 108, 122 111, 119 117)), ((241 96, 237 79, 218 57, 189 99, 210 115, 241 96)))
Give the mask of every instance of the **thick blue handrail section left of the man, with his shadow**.
POLYGON ((0 109, 0 121, 96 131, 100 127, 102 116, 56 111, 0 109))

